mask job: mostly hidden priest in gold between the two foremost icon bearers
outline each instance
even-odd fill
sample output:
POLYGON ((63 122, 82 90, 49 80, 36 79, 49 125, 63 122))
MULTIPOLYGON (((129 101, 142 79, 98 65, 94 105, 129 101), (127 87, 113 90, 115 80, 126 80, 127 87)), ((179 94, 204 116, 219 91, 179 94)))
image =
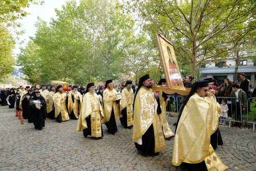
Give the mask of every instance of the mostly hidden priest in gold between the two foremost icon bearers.
MULTIPOLYGON (((162 78, 159 80, 158 85, 162 85, 163 87, 166 86, 166 79, 162 78)), ((170 130, 170 126, 167 122, 167 115, 166 115, 166 105, 167 105, 167 94, 164 93, 163 91, 161 91, 159 93, 159 100, 160 100, 160 105, 161 105, 161 115, 160 115, 160 120, 161 120, 161 126, 163 129, 163 135, 164 138, 170 138, 170 137, 174 137, 174 133, 172 132, 172 130, 170 130)))

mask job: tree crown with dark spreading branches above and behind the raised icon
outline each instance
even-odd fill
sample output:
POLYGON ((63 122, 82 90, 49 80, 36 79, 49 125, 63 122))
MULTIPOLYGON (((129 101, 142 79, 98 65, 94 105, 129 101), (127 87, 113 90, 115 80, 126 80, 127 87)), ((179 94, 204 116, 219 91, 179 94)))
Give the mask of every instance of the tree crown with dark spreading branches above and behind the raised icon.
POLYGON ((133 0, 127 2, 126 10, 139 11, 139 22, 152 40, 158 32, 172 40, 179 61, 184 61, 181 65, 190 65, 195 77, 196 67, 205 59, 227 55, 223 36, 254 19, 254 4, 247 0, 133 0))

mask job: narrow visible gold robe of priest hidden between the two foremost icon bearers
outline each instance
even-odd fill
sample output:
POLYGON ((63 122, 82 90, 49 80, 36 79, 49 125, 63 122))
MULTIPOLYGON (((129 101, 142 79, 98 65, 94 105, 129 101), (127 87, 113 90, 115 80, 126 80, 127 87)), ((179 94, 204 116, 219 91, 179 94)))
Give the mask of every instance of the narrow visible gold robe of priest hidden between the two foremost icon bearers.
POLYGON ((166 116, 166 105, 167 102, 166 100, 164 100, 163 97, 163 92, 161 91, 159 93, 159 101, 160 101, 160 106, 161 106, 161 115, 160 115, 160 120, 161 120, 161 126, 163 128, 163 134, 165 138, 169 138, 174 136, 174 133, 172 132, 172 130, 170 130, 170 126, 167 122, 167 116, 166 116))

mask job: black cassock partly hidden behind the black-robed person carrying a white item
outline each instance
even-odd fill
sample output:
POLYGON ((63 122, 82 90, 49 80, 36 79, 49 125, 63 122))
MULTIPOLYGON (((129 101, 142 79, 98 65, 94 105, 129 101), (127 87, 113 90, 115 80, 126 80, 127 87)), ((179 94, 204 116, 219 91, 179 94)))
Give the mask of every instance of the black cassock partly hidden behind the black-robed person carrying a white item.
POLYGON ((24 119, 28 119, 29 123, 33 122, 31 110, 29 109, 29 100, 34 96, 35 95, 33 93, 27 93, 23 96, 22 100, 22 115, 24 119), (27 98, 27 96, 29 96, 29 99, 27 98))

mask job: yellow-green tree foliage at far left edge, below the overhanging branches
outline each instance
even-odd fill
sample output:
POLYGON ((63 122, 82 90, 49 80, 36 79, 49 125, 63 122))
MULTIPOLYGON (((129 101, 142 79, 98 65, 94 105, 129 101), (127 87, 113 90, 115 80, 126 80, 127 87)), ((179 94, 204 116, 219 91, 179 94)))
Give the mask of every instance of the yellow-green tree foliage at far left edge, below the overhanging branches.
POLYGON ((0 24, 0 81, 13 71, 14 58, 12 49, 14 44, 11 33, 5 26, 0 24))

